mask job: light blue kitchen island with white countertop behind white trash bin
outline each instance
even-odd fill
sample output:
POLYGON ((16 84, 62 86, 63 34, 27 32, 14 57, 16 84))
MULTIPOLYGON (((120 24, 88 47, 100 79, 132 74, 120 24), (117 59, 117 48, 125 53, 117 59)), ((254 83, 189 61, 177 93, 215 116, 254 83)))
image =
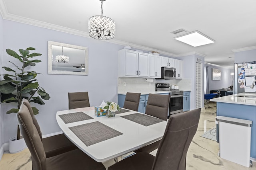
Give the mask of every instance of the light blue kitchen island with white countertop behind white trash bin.
POLYGON ((217 116, 226 116, 252 121, 250 156, 252 158, 256 158, 256 93, 239 93, 220 98, 213 98, 210 101, 217 102, 217 116))

